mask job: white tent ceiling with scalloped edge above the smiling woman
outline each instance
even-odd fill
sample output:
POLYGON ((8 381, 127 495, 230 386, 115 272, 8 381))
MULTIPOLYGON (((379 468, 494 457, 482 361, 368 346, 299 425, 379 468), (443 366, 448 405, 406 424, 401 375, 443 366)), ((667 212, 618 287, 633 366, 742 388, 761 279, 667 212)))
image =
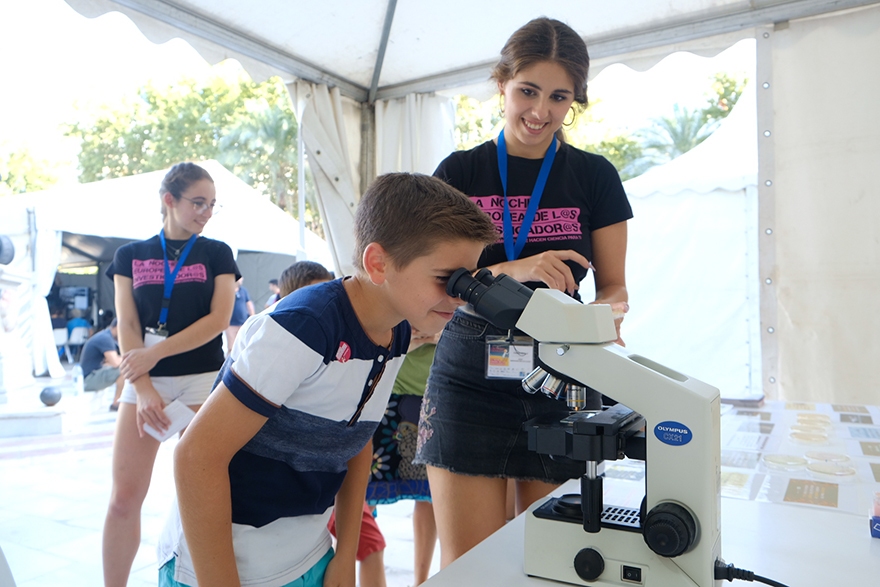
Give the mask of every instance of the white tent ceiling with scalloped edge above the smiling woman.
POLYGON ((876 0, 66 0, 86 16, 128 15, 150 40, 181 37, 214 63, 232 57, 256 79, 279 74, 338 87, 358 102, 483 83, 507 37, 531 18, 568 23, 593 74, 647 68, 673 51, 714 55, 748 29, 876 0))

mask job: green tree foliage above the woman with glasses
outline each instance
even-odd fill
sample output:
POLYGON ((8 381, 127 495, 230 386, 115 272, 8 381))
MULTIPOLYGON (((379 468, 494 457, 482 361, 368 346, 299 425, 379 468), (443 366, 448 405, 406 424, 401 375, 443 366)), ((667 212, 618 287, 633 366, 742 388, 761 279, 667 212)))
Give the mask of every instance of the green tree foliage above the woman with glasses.
MULTIPOLYGON (((205 83, 147 85, 137 100, 104 107, 91 120, 69 125, 66 134, 80 141, 82 182, 216 159, 281 209, 299 214, 297 123, 278 78, 257 84, 217 76, 205 83)), ((321 234, 313 198, 306 199, 305 215, 321 234)))

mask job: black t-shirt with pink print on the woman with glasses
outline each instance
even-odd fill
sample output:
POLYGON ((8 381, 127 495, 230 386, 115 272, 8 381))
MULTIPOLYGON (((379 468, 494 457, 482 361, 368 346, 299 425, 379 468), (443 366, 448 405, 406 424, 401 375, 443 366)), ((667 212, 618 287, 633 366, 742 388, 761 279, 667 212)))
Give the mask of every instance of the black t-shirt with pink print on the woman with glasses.
MULTIPOLYGON (((166 240, 174 249, 186 241, 166 240)), ((174 271, 175 261, 169 259, 174 271)), ((211 312, 214 296, 214 278, 231 273, 241 277, 232 256, 232 249, 224 242, 199 237, 187 255, 183 267, 177 273, 171 291, 166 328, 169 335, 185 329, 211 312)), ((159 235, 145 241, 123 245, 116 250, 113 262, 107 268, 107 277, 114 275, 130 277, 132 293, 141 322, 141 334, 147 327, 155 328, 162 309, 165 284, 165 266, 159 235)), ((191 351, 166 357, 150 371, 153 377, 194 375, 217 371, 223 365, 223 341, 218 334, 206 344, 191 351)))

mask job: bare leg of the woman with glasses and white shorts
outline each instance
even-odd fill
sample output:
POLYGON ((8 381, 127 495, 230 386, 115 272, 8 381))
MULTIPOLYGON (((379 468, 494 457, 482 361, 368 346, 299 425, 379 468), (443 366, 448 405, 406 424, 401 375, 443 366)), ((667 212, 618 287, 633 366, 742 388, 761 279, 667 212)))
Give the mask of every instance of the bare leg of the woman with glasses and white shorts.
POLYGON ((104 521, 105 587, 124 586, 141 541, 141 505, 150 487, 159 442, 137 433, 137 406, 123 403, 113 440, 113 487, 104 521))

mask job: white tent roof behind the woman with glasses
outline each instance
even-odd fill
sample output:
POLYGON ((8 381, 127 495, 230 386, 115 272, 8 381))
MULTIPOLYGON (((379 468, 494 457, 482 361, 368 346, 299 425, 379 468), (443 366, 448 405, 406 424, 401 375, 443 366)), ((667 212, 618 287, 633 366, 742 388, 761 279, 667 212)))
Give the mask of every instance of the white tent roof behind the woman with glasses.
MULTIPOLYGON (((222 205, 204 236, 222 240, 233 250, 302 257, 297 255, 299 225, 293 217, 216 161, 199 165, 214 179, 217 203, 222 205)), ((0 200, 0 215, 11 219, 34 209, 38 229, 63 233, 62 264, 107 261, 123 242, 149 238, 162 225, 159 185, 166 172, 7 196, 0 200)), ((305 234, 305 253, 332 267, 327 243, 311 231, 305 234)))

